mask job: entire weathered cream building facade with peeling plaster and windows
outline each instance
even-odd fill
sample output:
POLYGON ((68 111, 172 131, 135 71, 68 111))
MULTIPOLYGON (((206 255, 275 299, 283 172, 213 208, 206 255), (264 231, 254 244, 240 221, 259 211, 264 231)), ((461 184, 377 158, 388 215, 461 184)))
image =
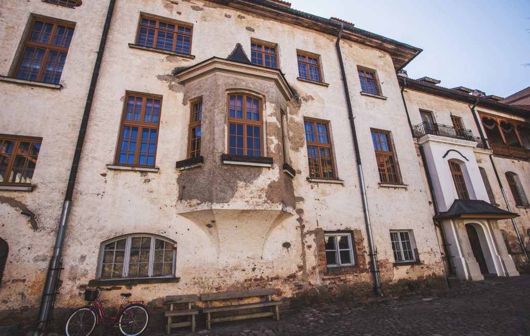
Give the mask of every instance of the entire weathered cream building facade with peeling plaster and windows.
POLYGON ((396 75, 419 48, 276 0, 0 6, 2 324, 42 320, 56 256, 52 328, 87 286, 156 311, 528 269, 528 112, 396 75))

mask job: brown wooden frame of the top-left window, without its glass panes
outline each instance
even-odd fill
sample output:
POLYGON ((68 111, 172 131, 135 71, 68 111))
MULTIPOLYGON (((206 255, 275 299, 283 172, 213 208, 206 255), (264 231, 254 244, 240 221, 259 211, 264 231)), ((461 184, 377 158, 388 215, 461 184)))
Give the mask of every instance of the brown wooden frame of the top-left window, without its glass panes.
MULTIPOLYGON (((67 23, 67 22, 65 22, 63 20, 59 21, 59 20, 52 20, 52 19, 48 19, 48 18, 41 18, 40 16, 34 16, 31 19, 30 28, 29 28, 29 30, 28 30, 25 38, 24 38, 23 44, 22 44, 22 46, 20 48, 20 53, 19 53, 17 61, 16 61, 16 66, 13 69, 13 77, 14 78, 27 80, 27 81, 41 82, 41 83, 59 84, 59 81, 60 81, 61 77, 63 76, 64 65, 66 64, 66 57, 68 56, 68 50, 70 48, 70 44, 71 44, 72 40, 70 40, 70 43, 69 43, 68 47, 57 46, 57 45, 51 44, 51 41, 55 37, 55 33, 56 33, 56 30, 57 30, 58 26, 65 27, 66 29, 68 29, 68 28, 74 29, 74 32, 75 32, 75 24, 74 23, 67 23), (50 32, 50 35, 49 35, 49 41, 46 44, 42 43, 42 42, 37 42, 37 41, 30 41, 33 29, 34 29, 35 24, 37 22, 42 22, 43 24, 52 24, 53 25, 53 27, 51 29, 51 32, 50 32), (24 77, 19 77, 18 76, 18 72, 20 70, 20 66, 22 65, 22 62, 23 62, 23 59, 24 59, 25 50, 28 47, 45 49, 44 54, 42 55, 41 63, 40 63, 40 66, 39 66, 39 71, 37 73, 37 78, 35 80, 28 79, 28 74, 26 74, 24 77), (63 70, 61 70, 61 75, 58 77, 57 83, 51 82, 51 81, 50 82, 45 82, 45 81, 42 80, 42 77, 45 74, 46 63, 48 61, 48 55, 50 54, 50 51, 57 51, 58 53, 66 53, 65 63, 63 64, 63 70)), ((72 37, 73 37, 74 32, 72 33, 72 37)))

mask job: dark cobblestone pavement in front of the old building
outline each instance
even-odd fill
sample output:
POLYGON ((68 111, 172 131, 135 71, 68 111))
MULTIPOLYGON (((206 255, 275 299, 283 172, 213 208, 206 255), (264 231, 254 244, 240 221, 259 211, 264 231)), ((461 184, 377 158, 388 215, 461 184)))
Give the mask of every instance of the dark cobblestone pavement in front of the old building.
MULTIPOLYGON (((173 335, 189 336, 184 328, 173 335)), ((530 335, 530 274, 466 282, 436 294, 329 304, 270 318, 199 323, 200 336, 530 335)))

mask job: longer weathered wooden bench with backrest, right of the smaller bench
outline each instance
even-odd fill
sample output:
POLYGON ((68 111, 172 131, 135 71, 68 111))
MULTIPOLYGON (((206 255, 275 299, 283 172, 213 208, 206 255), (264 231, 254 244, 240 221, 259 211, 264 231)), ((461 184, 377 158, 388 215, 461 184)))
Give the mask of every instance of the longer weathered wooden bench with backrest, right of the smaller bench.
POLYGON ((249 289, 249 290, 236 290, 227 292, 217 293, 203 293, 200 295, 201 301, 206 301, 206 307, 202 308, 202 312, 207 314, 206 327, 209 330, 212 322, 227 322, 244 320, 245 318, 263 317, 263 316, 274 316, 276 320, 280 320, 280 312, 278 306, 281 305, 281 301, 273 301, 271 295, 276 293, 276 288, 263 288, 263 289, 249 289), (261 297, 267 297, 267 301, 261 301, 261 297), (260 301, 246 304, 229 304, 226 300, 229 299, 244 299, 256 297, 260 301), (212 306, 212 301, 220 301, 215 306, 212 306), (211 317, 211 313, 216 312, 229 312, 229 311, 241 311, 243 309, 260 308, 260 307, 271 307, 270 312, 252 313, 245 315, 233 315, 225 317, 211 317))

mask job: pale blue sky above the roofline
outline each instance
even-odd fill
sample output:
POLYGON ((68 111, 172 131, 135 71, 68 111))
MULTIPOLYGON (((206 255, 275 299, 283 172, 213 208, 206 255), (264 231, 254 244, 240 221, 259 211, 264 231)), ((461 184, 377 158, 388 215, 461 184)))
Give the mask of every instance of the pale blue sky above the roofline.
POLYGON ((405 70, 507 97, 530 86, 530 0, 290 0, 299 11, 422 48, 405 70))

